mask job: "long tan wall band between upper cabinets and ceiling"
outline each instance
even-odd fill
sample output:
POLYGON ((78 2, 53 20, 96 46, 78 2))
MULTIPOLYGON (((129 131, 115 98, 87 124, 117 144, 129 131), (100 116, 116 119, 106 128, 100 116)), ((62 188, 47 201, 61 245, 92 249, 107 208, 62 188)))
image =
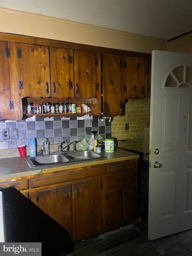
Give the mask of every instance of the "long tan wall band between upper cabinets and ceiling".
POLYGON ((166 50, 166 40, 91 26, 79 22, 0 8, 0 32, 51 38, 121 50, 166 50))

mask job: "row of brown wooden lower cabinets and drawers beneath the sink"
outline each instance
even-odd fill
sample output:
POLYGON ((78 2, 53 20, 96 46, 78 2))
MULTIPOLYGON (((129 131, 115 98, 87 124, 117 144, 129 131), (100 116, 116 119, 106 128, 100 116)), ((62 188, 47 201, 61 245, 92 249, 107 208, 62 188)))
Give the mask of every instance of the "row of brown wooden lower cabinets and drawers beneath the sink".
POLYGON ((30 200, 73 241, 88 238, 136 219, 136 167, 129 160, 36 176, 29 182, 30 200))

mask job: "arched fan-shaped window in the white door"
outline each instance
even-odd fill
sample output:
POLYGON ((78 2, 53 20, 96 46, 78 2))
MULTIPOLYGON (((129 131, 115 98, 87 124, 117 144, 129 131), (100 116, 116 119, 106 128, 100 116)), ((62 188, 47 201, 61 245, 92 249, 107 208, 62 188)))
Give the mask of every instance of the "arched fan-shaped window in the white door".
POLYGON ((174 68, 165 82, 165 88, 168 87, 192 88, 192 66, 182 64, 174 68))

